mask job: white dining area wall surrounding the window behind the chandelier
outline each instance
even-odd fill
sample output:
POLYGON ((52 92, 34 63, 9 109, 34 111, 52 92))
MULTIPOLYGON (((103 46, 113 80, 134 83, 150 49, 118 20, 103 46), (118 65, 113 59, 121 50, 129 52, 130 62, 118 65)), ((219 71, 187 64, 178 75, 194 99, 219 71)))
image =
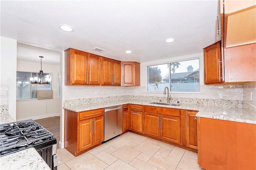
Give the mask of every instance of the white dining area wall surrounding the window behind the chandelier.
MULTIPOLYGON (((17 71, 39 72, 39 70, 40 62, 31 63, 27 61, 17 61, 17 71)), ((43 100, 17 100, 17 120, 60 116, 61 99, 58 98, 58 73, 60 73, 60 65, 42 63, 42 70, 44 73, 52 73, 53 98, 43 100)))

